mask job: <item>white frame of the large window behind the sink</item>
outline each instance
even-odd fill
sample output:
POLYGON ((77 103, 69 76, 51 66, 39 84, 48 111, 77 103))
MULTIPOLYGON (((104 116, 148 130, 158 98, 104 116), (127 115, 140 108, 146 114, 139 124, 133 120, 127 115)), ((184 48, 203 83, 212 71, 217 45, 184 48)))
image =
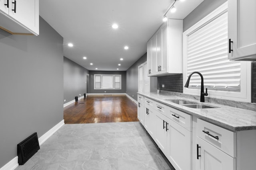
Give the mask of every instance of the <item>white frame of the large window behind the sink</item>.
MULTIPOLYGON (((197 31, 210 21, 218 18, 222 14, 228 11, 228 3, 225 2, 216 10, 208 14, 202 20, 198 21, 192 27, 184 31, 183 33, 183 93, 191 95, 200 95, 200 89, 190 89, 185 88, 184 85, 187 81, 187 45, 188 45, 188 36, 193 32, 197 31)), ((228 44, 228 40, 227 40, 228 44)), ((208 96, 212 98, 221 98, 228 100, 236 100, 242 102, 250 102, 250 82, 251 82, 251 62, 241 61, 241 72, 240 72, 240 92, 232 91, 216 91, 208 89, 208 96)), ((205 89, 204 89, 205 90, 205 89)))

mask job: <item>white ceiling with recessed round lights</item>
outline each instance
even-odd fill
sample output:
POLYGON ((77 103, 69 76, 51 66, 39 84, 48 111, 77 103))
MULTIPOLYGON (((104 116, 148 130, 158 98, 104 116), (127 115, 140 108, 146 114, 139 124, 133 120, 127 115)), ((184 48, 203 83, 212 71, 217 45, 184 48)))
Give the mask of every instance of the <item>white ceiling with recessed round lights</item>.
MULTIPOLYGON (((168 18, 184 19, 203 0, 177 0, 168 18)), ((40 0, 40 16, 63 38, 64 56, 88 70, 127 70, 174 0, 40 0), (71 3, 70 3, 71 2, 71 3), (117 23, 118 29, 112 24, 117 23), (68 43, 73 43, 69 47, 68 43), (124 46, 129 47, 128 50, 124 46), (87 57, 87 59, 83 59, 87 57), (123 61, 120 61, 123 58, 123 61), (93 63, 93 65, 90 65, 93 63), (118 64, 121 64, 118 66, 118 64)))

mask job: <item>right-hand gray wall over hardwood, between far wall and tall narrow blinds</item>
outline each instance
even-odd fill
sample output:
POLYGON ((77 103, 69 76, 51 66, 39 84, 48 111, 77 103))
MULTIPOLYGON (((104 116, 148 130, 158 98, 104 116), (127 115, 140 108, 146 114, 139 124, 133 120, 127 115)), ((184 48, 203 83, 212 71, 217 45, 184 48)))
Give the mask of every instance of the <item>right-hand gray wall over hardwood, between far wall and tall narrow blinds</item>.
POLYGON ((136 101, 138 98, 138 66, 146 61, 147 53, 126 70, 126 93, 136 101))

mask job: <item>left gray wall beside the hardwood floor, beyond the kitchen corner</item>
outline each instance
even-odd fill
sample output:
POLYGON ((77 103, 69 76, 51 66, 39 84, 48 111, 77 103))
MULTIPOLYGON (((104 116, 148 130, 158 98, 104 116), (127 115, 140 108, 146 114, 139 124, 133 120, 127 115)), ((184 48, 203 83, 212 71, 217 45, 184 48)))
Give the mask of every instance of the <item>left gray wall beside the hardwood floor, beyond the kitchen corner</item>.
POLYGON ((64 57, 64 99, 70 102, 75 96, 86 93, 86 73, 89 70, 64 57))

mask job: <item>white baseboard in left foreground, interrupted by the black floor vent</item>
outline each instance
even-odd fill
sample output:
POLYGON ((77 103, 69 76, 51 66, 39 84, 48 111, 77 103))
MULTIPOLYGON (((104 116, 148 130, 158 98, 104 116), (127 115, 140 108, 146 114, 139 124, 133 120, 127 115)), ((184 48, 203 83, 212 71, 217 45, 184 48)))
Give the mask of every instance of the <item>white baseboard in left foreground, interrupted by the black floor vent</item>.
MULTIPOLYGON (((60 129, 60 127, 62 127, 64 125, 64 119, 62 121, 60 121, 60 123, 58 123, 57 125, 55 125, 54 127, 52 127, 52 129, 50 129, 48 132, 44 133, 44 135, 42 135, 39 139, 39 145, 42 145, 49 137, 51 137, 56 131, 58 131, 58 129, 60 129)), ((19 166, 18 164, 18 156, 15 156, 15 158, 13 158, 12 160, 10 160, 7 164, 5 164, 2 168, 0 168, 0 170, 14 170, 15 168, 17 168, 19 166)))

